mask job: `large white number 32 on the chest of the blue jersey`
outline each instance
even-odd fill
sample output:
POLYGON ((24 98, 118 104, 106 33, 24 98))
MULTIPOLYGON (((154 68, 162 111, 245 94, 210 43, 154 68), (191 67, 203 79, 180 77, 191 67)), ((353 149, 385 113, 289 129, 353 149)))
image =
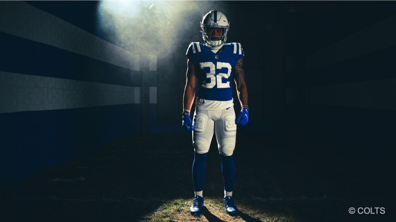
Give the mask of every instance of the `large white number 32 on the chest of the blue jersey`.
POLYGON ((202 83, 204 88, 213 88, 217 83, 217 88, 230 88, 230 81, 223 83, 221 78, 228 79, 231 74, 231 64, 227 62, 217 62, 216 65, 213 62, 200 62, 200 68, 209 68, 209 72, 206 73, 206 78, 210 78, 210 83, 205 81, 202 83), (227 73, 219 73, 216 75, 216 69, 227 68, 227 73))

